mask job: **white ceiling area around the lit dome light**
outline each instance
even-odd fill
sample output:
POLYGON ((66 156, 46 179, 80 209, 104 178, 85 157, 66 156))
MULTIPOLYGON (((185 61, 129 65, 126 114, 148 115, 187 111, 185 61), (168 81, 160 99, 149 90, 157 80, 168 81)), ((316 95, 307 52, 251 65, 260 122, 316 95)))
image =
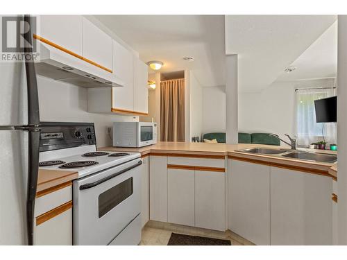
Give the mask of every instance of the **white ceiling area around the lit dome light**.
MULTIPOLYGON (((160 71, 190 69, 204 87, 225 85, 223 15, 95 15, 139 52, 144 62, 160 60, 160 71), (194 57, 185 62, 184 57, 194 57)), ((154 72, 154 71, 150 71, 154 72)))

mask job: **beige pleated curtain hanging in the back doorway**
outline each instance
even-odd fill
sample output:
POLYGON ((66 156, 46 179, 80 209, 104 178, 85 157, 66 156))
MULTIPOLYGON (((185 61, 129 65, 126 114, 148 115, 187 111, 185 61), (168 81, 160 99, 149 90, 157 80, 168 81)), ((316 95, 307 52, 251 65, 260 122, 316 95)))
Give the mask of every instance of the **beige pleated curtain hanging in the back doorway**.
POLYGON ((160 83, 160 139, 185 141, 185 79, 160 83))

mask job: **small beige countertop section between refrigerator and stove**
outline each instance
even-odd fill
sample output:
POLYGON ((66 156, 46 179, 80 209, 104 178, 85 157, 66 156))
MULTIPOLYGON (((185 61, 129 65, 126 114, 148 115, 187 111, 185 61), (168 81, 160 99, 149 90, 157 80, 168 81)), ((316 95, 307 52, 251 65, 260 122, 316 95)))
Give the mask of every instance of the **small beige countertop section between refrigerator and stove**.
POLYGON ((76 171, 56 171, 56 170, 39 170, 37 178, 37 193, 46 189, 58 187, 66 182, 77 179, 76 171))

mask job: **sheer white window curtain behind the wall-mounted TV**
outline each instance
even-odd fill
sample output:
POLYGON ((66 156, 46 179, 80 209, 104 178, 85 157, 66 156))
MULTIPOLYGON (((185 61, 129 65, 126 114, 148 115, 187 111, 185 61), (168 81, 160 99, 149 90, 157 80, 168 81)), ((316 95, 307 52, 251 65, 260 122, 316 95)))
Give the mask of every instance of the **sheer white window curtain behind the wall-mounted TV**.
POLYGON ((308 146, 313 142, 324 140, 327 144, 337 144, 336 123, 316 123, 314 101, 329 96, 336 96, 336 89, 296 89, 296 138, 298 144, 308 146))

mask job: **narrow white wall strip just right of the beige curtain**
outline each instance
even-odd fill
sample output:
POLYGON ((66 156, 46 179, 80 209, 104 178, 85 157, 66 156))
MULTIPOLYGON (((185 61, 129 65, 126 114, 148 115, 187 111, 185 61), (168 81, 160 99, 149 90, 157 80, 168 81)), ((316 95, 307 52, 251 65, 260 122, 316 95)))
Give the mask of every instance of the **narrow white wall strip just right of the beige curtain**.
POLYGON ((192 137, 201 137, 203 129, 203 89, 194 73, 189 72, 189 118, 190 118, 190 141, 192 137))

